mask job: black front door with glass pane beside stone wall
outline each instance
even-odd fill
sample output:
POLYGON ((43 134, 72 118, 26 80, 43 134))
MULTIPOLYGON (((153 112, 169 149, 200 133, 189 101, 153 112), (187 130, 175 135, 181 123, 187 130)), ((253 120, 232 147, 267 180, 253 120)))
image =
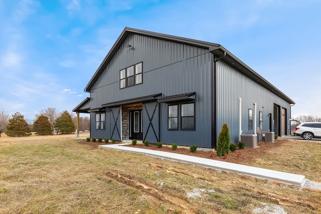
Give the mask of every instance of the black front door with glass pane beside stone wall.
POLYGON ((130 136, 129 139, 142 140, 142 116, 141 109, 129 111, 130 136))

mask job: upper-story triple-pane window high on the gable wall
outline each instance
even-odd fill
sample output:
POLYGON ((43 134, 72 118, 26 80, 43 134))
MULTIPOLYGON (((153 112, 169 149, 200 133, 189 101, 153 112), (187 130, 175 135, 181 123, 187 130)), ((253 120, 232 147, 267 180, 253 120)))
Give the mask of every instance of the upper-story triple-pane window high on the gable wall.
POLYGON ((142 83, 142 63, 120 70, 120 88, 142 83))

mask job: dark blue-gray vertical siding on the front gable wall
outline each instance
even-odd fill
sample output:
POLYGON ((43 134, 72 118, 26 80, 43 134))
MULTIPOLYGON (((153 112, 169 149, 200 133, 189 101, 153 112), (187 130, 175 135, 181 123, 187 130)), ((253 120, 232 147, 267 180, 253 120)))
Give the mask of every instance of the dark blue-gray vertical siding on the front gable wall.
MULTIPOLYGON (((91 88, 91 108, 100 108, 102 104, 157 93, 163 93, 163 97, 166 97, 196 92, 196 130, 169 131, 167 104, 159 104, 160 140, 168 144, 180 142, 180 145, 197 144, 199 147, 211 147, 209 118, 212 116, 210 90, 212 59, 212 54, 206 48, 130 34, 91 88), (126 48, 127 44, 131 45, 130 49, 126 48), (143 83, 120 89, 119 71, 139 62, 143 63, 143 83)), ((146 114, 144 109, 143 114, 146 114)), ((93 116, 94 113, 91 113, 91 118, 94 118, 93 116)), ((106 129, 113 129, 113 124, 107 127, 107 121, 113 123, 110 112, 106 112, 106 129)), ((145 125, 148 123, 148 117, 144 116, 143 131, 146 131, 145 125)), ((93 120, 91 125, 95 127, 93 120)), ((121 130, 120 118, 117 126, 118 130, 121 130)), ((112 130, 92 129, 91 132, 92 136, 98 137, 103 132, 111 134, 112 130)), ((147 135, 149 134, 150 130, 147 135)))

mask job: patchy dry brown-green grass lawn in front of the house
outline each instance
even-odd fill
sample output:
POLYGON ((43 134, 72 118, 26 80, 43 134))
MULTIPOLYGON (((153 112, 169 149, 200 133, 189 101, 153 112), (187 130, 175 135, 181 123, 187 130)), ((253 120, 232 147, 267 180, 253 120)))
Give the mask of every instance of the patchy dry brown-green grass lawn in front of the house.
MULTIPOLYGON (((320 191, 93 149, 75 138, 1 137, 0 213, 251 213, 255 207, 263 208, 263 203, 281 205, 288 213, 321 212, 320 191), (195 188, 205 191, 200 197, 187 197, 195 188)), ((307 158, 318 161, 315 155, 320 153, 313 153, 316 145, 301 146, 294 156, 302 161, 287 165, 303 168, 307 158)), ((285 162, 289 157, 268 161, 285 162)))

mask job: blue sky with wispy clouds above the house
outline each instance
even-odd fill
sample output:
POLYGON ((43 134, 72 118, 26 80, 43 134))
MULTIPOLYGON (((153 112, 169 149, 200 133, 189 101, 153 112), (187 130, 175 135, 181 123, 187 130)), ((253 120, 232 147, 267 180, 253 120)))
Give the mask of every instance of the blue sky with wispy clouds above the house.
MULTIPOLYGON (((321 117, 319 0, 0 0, 0 109, 69 112, 125 27, 221 44, 321 117)), ((89 115, 83 115, 89 116, 89 115)))

